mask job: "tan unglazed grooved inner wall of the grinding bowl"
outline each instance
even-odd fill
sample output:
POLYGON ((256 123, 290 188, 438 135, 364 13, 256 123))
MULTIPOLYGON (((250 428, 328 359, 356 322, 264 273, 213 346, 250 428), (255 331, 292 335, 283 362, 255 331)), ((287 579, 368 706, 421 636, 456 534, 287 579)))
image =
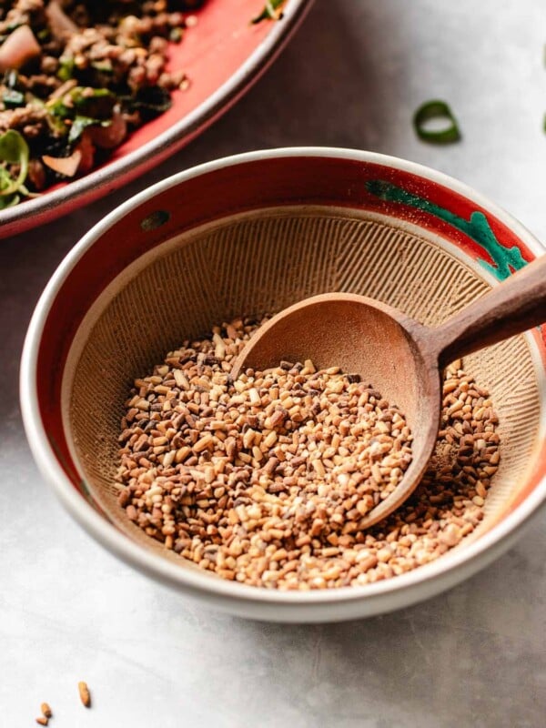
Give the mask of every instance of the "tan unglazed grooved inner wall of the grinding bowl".
MULTIPOLYGON (((273 312, 335 290, 379 298, 435 325, 489 288, 450 246, 399 226, 347 209, 248 213, 168 241, 106 288, 71 349, 63 400, 89 494, 118 528, 186 563, 126 520, 113 484, 119 420, 132 380, 184 339, 241 313, 273 312)), ((477 538, 510 511, 525 485, 541 408, 524 337, 465 359, 465 369, 490 389, 501 419, 501 467, 477 538)))

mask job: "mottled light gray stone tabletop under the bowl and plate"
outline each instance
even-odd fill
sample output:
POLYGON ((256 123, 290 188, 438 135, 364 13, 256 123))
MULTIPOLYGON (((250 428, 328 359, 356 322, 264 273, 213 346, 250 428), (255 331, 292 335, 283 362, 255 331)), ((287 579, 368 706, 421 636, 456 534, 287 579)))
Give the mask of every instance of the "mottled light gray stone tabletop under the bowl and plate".
POLYGON ((26 325, 66 252, 122 200, 207 159, 300 144, 408 157, 546 239, 544 41, 539 0, 317 0, 258 86, 190 147, 71 217, 0 241, 0 725, 35 724, 43 700, 56 728, 544 725, 544 514, 489 569, 409 610, 313 627, 244 622, 91 541, 38 475, 17 399, 26 325), (413 109, 435 96, 460 118, 457 146, 413 134, 413 109))

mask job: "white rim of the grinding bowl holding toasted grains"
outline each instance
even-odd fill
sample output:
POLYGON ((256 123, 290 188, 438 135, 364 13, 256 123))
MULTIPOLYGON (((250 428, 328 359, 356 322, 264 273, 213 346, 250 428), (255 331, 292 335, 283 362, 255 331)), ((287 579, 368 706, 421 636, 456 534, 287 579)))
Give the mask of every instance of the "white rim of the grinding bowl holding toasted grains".
MULTIPOLYGON (((75 489, 73 483, 59 465, 54 450, 50 447, 37 405, 37 354, 40 348, 45 319, 56 298, 56 293, 69 276, 72 268, 75 267, 79 258, 84 255, 88 248, 93 246, 97 238, 100 238, 120 218, 125 217, 130 210, 138 207, 143 202, 165 191, 169 187, 177 186, 188 179, 214 172, 222 167, 233 167, 248 162, 281 157, 329 157, 348 159, 394 167, 401 171, 429 179, 488 210, 507 227, 510 227, 535 255, 540 256, 544 254, 544 248, 541 246, 541 243, 537 238, 534 238, 526 227, 521 225, 516 218, 512 217, 501 207, 492 203, 488 198, 481 196, 480 193, 471 187, 430 167, 424 167, 415 162, 398 157, 389 157, 376 152, 333 147, 282 147, 222 157, 212 162, 207 162, 179 172, 176 175, 157 182, 156 185, 140 192, 135 197, 126 200, 125 203, 116 207, 115 210, 92 227, 66 255, 66 258, 64 258, 58 268, 56 268, 56 272, 49 280, 42 296, 36 304, 35 312, 25 337, 20 370, 21 410, 26 437, 36 463, 44 475, 45 480, 49 481, 53 486, 53 489, 56 491, 59 500, 66 507, 66 510, 71 513, 76 521, 96 541, 99 541, 105 546, 108 551, 112 551, 123 561, 133 565, 140 571, 154 576, 159 581, 174 586, 178 590, 189 593, 193 592, 196 595, 228 598, 234 602, 265 602, 268 604, 276 604, 279 607, 282 605, 286 605, 287 607, 310 607, 318 604, 339 604, 340 602, 355 602, 359 600, 366 601, 373 597, 384 597, 388 594, 399 593, 400 591, 410 591, 411 587, 416 588, 422 586, 424 582, 429 583, 430 581, 439 580, 440 577, 444 577, 445 579, 448 573, 454 575, 454 572, 463 571, 465 568, 468 570, 469 561, 473 561, 474 563, 472 571, 478 571, 480 566, 477 564, 481 563, 485 565, 487 562, 492 561, 493 557, 488 554, 488 551, 496 544, 500 544, 501 541, 507 540, 513 531, 528 521, 539 509, 541 504, 546 501, 546 477, 543 477, 537 483, 531 494, 514 511, 507 515, 501 522, 494 525, 490 531, 483 534, 480 539, 470 543, 464 550, 449 551, 440 560, 432 561, 420 566, 418 569, 401 574, 396 578, 376 581, 371 584, 362 585, 359 588, 339 587, 332 590, 305 592, 278 591, 260 589, 233 581, 214 579, 209 574, 205 572, 200 573, 197 570, 181 569, 177 563, 167 561, 167 559, 163 559, 161 556, 147 551, 141 545, 137 544, 136 541, 131 541, 126 534, 118 531, 115 525, 110 521, 106 521, 105 518, 95 511, 93 506, 75 489)), ((514 536, 515 534, 510 541, 514 540, 514 536)), ((500 551, 500 549, 498 548, 496 551, 500 551)), ((452 581, 456 581, 455 578, 452 581)), ((414 602, 415 599, 411 601, 414 602)))

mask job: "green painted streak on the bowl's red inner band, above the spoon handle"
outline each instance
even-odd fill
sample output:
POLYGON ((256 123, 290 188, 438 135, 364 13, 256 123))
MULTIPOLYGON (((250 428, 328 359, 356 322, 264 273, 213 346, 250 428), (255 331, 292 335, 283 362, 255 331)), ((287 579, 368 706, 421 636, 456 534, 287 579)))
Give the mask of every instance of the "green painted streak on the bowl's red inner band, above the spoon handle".
POLYGON ((465 220, 464 217, 459 217, 450 210, 424 199, 424 197, 413 195, 401 187, 396 187, 396 185, 380 179, 369 180, 367 188, 372 195, 386 202, 398 202, 402 205, 409 205, 423 210, 460 230, 490 254, 494 265, 491 265, 483 258, 478 258, 478 262, 499 280, 508 278, 511 273, 527 264, 527 261, 521 255, 520 248, 517 246, 507 248, 499 242, 490 228, 487 217, 482 212, 475 211, 470 215, 470 220, 465 220))

